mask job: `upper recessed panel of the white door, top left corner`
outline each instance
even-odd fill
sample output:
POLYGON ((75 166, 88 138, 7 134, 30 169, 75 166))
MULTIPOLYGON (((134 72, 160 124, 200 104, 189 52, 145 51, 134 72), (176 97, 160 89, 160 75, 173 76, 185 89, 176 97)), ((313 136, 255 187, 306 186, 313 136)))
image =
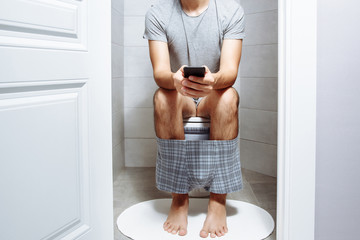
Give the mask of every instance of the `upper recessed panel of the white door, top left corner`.
POLYGON ((0 0, 0 4, 2 45, 86 50, 87 1, 0 0))

